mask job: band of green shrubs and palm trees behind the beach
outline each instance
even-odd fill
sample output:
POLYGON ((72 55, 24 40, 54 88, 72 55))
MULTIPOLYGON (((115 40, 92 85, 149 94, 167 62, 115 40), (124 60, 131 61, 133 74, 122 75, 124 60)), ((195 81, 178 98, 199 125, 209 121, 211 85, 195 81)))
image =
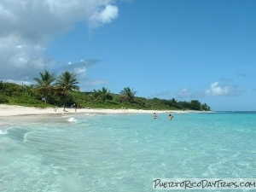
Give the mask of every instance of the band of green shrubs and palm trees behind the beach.
POLYGON ((137 91, 125 87, 119 94, 111 93, 105 87, 91 92, 79 91, 76 75, 69 72, 61 73, 57 79, 48 71, 39 73, 40 78, 34 80, 37 84, 13 84, 0 81, 0 103, 28 107, 69 107, 77 103, 80 108, 136 108, 154 110, 205 110, 210 107, 197 100, 178 102, 154 97, 135 96, 137 91), (55 84, 54 84, 55 82, 55 84))

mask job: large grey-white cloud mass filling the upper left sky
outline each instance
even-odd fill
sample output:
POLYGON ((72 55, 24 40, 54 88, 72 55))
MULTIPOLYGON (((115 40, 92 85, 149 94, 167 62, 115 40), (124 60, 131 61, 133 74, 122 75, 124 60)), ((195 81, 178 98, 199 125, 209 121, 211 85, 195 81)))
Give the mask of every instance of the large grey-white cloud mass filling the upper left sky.
POLYGON ((50 40, 72 30, 76 22, 84 21, 91 28, 111 22, 118 16, 113 3, 115 0, 1 0, 1 80, 25 81, 53 67, 55 60, 44 55, 50 40))

